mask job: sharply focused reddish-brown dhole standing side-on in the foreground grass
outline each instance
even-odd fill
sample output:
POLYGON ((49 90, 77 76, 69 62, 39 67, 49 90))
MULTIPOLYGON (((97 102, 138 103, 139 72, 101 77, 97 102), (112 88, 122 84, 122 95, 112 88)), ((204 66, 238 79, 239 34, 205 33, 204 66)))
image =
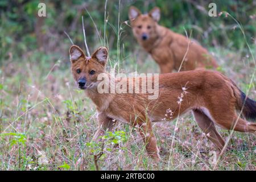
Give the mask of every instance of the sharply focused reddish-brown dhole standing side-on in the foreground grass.
MULTIPOLYGON (((77 46, 72 46, 69 53, 71 71, 77 86, 85 90, 86 96, 97 107, 99 127, 94 139, 103 135, 105 130, 113 131, 116 121, 125 122, 138 127, 148 154, 158 160, 160 158, 152 122, 175 119, 188 110, 192 110, 199 127, 220 150, 225 142, 215 124, 228 130, 234 127, 234 130, 241 132, 256 131, 256 123, 238 118, 236 114, 236 110, 243 109, 242 115, 245 118, 255 120, 256 102, 246 98, 236 84, 221 73, 197 70, 162 74, 158 82, 159 95, 155 100, 150 100, 148 93, 99 93, 102 81, 98 76, 105 74, 111 77, 105 70, 107 48, 98 48, 92 57, 86 57, 77 46)), ((119 81, 114 80, 115 83, 119 81)), ((111 82, 107 84, 111 85, 111 82)), ((127 82, 127 88, 135 85, 129 84, 127 82)), ((139 86, 142 90, 142 85, 139 86)))

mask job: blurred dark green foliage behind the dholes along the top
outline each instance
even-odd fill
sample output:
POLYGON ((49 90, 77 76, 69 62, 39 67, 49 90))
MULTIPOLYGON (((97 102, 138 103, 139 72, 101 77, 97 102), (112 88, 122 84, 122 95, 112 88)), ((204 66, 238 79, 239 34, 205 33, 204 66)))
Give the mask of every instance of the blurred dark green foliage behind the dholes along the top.
MULTIPOLYGON (((71 45, 66 31, 75 44, 84 46, 81 16, 85 19, 85 30, 90 52, 97 46, 102 46, 97 34, 104 36, 105 1, 43 1, 46 3, 46 18, 37 15, 38 4, 41 1, 0 1, 0 40, 1 64, 12 56, 19 60, 28 52, 37 52, 37 56, 28 56, 27 61, 46 61, 49 56, 55 59, 67 57, 68 47, 71 45), (86 12, 88 10, 88 12, 86 12), (90 18, 90 16, 92 18, 90 18), (53 57, 52 57, 53 56, 53 57)), ((185 35, 184 28, 189 33, 193 30, 192 38, 203 46, 222 46, 230 50, 239 50, 245 46, 245 41, 237 24, 232 18, 208 16, 209 3, 212 1, 108 1, 106 16, 106 35, 109 49, 117 47, 118 14, 120 16, 121 52, 123 48, 134 51, 137 45, 130 27, 126 25, 127 11, 131 5, 138 7, 143 13, 154 6, 161 9, 159 24, 185 35), (124 47, 123 47, 124 46, 124 47)), ((242 25, 246 32, 246 39, 255 45, 256 32, 256 2, 251 1, 214 1, 217 14, 228 11, 242 25)), ((129 23, 129 22, 127 22, 129 23)), ((247 53, 247 52, 245 52, 247 53)))

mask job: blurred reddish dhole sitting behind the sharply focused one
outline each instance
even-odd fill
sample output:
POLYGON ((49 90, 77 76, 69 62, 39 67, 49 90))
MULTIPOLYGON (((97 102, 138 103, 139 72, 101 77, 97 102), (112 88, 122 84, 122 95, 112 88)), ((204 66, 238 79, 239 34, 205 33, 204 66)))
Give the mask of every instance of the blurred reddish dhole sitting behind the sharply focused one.
POLYGON ((129 19, 135 38, 159 64, 161 73, 170 73, 173 69, 178 71, 188 48, 180 71, 217 68, 216 61, 207 49, 195 42, 189 44, 185 36, 176 34, 158 24, 160 19, 158 7, 152 9, 148 14, 141 14, 141 11, 131 6, 129 19))

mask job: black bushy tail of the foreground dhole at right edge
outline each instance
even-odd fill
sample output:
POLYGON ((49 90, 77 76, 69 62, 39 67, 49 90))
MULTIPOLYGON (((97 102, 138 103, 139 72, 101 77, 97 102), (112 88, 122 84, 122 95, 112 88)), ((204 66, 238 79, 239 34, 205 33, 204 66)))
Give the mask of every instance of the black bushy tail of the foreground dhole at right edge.
POLYGON ((250 98, 246 97, 246 94, 241 92, 241 99, 242 104, 245 103, 243 106, 243 115, 247 119, 252 119, 255 121, 256 119, 256 101, 251 100, 250 98))

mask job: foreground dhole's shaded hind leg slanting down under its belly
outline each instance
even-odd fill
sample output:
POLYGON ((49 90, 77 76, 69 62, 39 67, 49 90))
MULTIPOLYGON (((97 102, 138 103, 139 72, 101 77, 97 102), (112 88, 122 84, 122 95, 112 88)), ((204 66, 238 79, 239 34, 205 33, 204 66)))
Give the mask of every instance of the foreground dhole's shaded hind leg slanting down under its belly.
POLYGON ((194 117, 196 119, 197 124, 203 130, 207 137, 213 142, 213 144, 218 147, 218 149, 222 150, 225 145, 224 140, 222 139, 221 135, 218 134, 216 127, 210 118, 207 117, 202 111, 200 110, 193 110, 194 117))

